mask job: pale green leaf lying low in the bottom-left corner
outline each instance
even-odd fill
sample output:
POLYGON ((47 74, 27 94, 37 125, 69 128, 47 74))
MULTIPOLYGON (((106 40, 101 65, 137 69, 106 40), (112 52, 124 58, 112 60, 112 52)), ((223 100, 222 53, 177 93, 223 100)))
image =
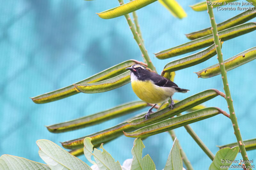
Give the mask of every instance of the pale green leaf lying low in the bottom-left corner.
POLYGON ((12 155, 2 155, 0 157, 0 169, 1 170, 51 170, 49 166, 28 160, 25 158, 12 156, 12 155))

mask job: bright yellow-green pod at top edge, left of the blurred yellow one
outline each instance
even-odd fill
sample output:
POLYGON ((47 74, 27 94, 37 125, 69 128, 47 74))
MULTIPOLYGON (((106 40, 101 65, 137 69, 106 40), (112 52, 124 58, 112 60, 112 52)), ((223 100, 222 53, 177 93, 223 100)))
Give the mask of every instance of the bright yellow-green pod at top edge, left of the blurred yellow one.
POLYGON ((156 0, 133 0, 131 2, 128 2, 126 4, 117 6, 115 8, 109 9, 107 11, 103 11, 100 13, 97 13, 100 18, 103 19, 110 19, 110 18, 116 18, 120 17, 122 15, 131 13, 133 11, 136 11, 144 6, 147 6, 148 4, 151 4, 155 2, 156 0))

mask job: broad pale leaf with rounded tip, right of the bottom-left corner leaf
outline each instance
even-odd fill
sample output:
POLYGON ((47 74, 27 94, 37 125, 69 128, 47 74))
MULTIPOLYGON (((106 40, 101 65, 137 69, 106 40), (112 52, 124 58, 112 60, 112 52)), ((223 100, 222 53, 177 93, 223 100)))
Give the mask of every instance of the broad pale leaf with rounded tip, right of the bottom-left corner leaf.
POLYGON ((37 140, 39 156, 46 162, 52 170, 54 169, 85 169, 92 170, 90 166, 80 159, 71 155, 57 144, 45 139, 37 140))

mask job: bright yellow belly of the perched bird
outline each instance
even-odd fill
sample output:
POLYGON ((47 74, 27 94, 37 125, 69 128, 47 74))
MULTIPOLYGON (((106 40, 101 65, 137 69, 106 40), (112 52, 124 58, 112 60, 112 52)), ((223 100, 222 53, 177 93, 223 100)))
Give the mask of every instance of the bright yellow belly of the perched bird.
POLYGON ((132 89, 143 101, 156 104, 169 99, 175 92, 171 87, 158 87, 152 81, 132 81, 132 89))

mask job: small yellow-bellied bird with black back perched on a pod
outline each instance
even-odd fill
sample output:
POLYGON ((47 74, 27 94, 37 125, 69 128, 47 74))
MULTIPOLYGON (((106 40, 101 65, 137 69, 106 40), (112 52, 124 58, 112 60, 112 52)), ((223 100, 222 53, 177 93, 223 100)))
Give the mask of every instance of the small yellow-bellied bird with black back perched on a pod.
POLYGON ((144 116, 146 120, 150 113, 153 113, 152 109, 157 103, 162 103, 171 98, 172 102, 169 105, 169 108, 173 108, 174 102, 172 100, 172 95, 175 92, 186 93, 189 91, 187 89, 181 89, 171 80, 164 78, 159 74, 150 72, 140 64, 134 64, 126 69, 131 70, 132 89, 135 94, 141 100, 154 104, 144 116))

